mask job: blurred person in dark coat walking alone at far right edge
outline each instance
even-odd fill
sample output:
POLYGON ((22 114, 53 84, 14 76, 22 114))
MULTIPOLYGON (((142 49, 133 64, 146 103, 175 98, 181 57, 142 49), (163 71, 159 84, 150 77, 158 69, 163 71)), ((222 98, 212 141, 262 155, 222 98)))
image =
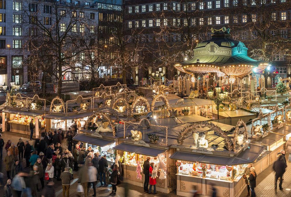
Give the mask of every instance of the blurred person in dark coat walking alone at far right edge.
POLYGON ((273 169, 276 172, 275 174, 275 193, 277 193, 277 181, 278 178, 280 177, 280 183, 279 183, 279 189, 283 190, 282 188, 282 177, 283 174, 285 173, 285 168, 287 167, 287 164, 284 162, 285 156, 283 154, 278 154, 277 155, 277 160, 273 164, 273 169))

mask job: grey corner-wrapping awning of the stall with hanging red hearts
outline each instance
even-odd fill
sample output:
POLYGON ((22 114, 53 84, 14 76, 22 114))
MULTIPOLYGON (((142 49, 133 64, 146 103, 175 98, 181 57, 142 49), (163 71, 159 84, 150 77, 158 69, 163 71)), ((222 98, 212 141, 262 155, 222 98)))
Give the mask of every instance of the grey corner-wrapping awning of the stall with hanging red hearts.
POLYGON ((237 156, 226 157, 218 155, 205 155, 191 152, 182 152, 177 151, 170 156, 172 159, 182 160, 182 161, 191 161, 191 162, 200 162, 207 164, 215 165, 239 165, 245 163, 253 163, 258 156, 262 153, 265 147, 249 144, 248 149, 241 152, 237 156), (258 152, 255 152, 258 151, 258 152))

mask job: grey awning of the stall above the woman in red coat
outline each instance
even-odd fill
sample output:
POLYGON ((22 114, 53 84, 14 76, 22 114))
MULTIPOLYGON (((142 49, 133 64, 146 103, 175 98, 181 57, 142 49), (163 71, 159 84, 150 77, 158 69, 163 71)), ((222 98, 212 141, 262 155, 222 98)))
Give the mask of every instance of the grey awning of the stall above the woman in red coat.
POLYGON ((127 152, 134 152, 134 153, 153 156, 153 157, 156 157, 158 156, 158 154, 161 154, 166 151, 165 149, 139 146, 139 145, 134 145, 134 144, 129 144, 129 143, 118 144, 117 146, 113 147, 113 149, 127 151, 127 152))

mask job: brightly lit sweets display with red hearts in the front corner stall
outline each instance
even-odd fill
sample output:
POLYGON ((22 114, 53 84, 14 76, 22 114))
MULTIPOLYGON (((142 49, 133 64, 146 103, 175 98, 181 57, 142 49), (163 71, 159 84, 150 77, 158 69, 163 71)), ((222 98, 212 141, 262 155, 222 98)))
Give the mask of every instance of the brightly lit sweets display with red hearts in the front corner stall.
POLYGON ((244 172, 247 164, 235 166, 210 165, 199 162, 189 162, 177 160, 179 174, 186 174, 192 176, 203 176, 205 172, 206 178, 214 178, 221 180, 235 179, 239 174, 244 172))

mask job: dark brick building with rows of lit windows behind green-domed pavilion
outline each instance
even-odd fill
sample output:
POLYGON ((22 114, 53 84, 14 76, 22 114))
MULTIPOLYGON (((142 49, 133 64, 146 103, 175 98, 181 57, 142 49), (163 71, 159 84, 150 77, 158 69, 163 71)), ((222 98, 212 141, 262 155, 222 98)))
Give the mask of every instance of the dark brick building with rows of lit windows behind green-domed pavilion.
MULTIPOLYGON (((200 40, 210 39, 212 27, 220 29, 224 26, 230 27, 233 39, 241 40, 251 48, 249 51, 253 58, 262 59, 263 56, 263 59, 272 62, 272 70, 278 70, 282 78, 291 76, 290 65, 286 62, 288 54, 284 53, 288 51, 287 47, 283 49, 282 45, 276 44, 287 45, 290 40, 291 5, 286 0, 125 0, 123 9, 127 13, 124 17, 125 29, 139 31, 139 42, 147 46, 142 50, 141 57, 150 54, 146 60, 152 63, 148 63, 149 68, 140 69, 140 77, 144 73, 148 77, 159 68, 168 79, 173 79, 173 75, 178 72, 173 69, 169 59, 172 57, 173 61, 183 61, 191 58, 192 54, 187 53, 187 50, 191 51, 200 40), (267 25, 260 24, 262 21, 267 25), (274 50, 256 56, 262 52, 262 45, 274 50), (282 50, 279 50, 280 47, 282 50), (167 52, 161 48, 167 49, 167 52)), ((133 36, 128 35, 128 42, 134 41, 133 36)))

